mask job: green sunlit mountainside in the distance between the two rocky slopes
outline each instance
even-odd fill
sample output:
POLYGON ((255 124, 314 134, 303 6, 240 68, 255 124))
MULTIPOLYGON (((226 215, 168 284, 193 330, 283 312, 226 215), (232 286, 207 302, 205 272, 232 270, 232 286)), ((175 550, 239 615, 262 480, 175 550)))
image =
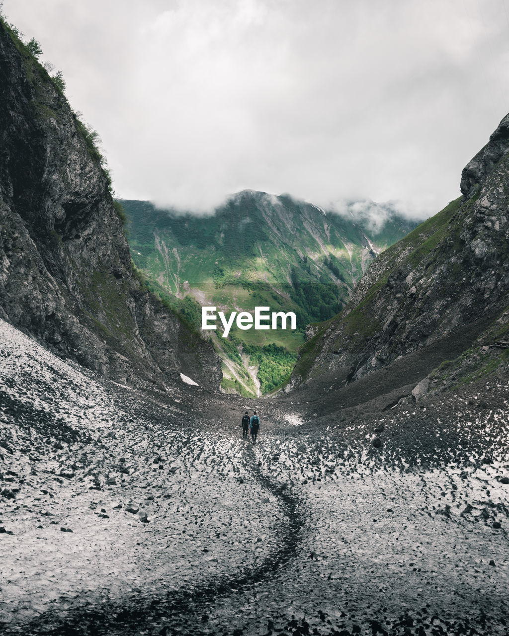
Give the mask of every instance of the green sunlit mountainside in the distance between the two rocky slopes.
POLYGON ((223 357, 223 389, 243 394, 284 384, 305 326, 336 315, 373 258, 417 225, 389 208, 378 207, 382 219, 376 221, 353 203, 337 214, 254 191, 200 217, 146 201, 122 205, 136 267, 195 328, 206 305, 227 314, 256 306, 295 312, 295 331, 234 326, 228 338, 211 336, 223 357))

